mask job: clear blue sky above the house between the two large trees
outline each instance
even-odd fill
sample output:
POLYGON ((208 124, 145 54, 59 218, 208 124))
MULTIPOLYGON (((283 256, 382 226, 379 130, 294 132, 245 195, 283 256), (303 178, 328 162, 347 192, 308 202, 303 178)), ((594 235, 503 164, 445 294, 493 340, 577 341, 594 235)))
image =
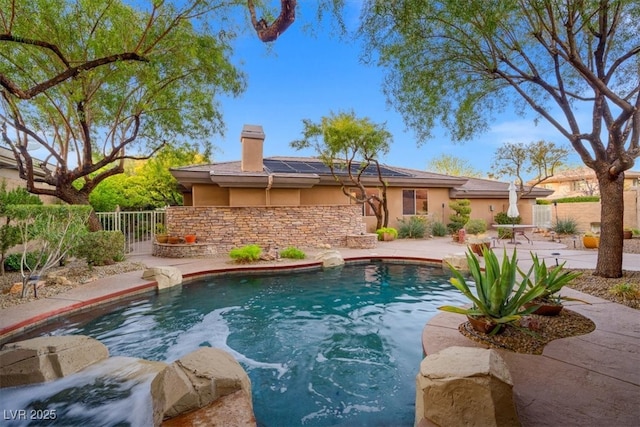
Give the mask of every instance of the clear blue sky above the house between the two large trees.
MULTIPOLYGON (((262 125, 265 156, 312 156, 313 150, 289 147, 302 135, 302 120, 318 122, 331 112, 351 110, 358 117, 386 123, 393 134, 393 144, 381 160, 393 166, 425 170, 431 159, 449 154, 486 173, 496 149, 504 142, 544 139, 566 144, 545 122, 535 125, 533 116, 506 114, 497 118, 489 132, 473 141, 453 143, 443 130, 436 129, 436 137, 418 146, 413 132, 386 103, 382 93, 385 70, 361 64, 361 46, 331 36, 327 23, 315 36, 304 31, 304 24, 313 15, 312 10, 303 9, 305 12, 307 15, 272 43, 271 49, 255 33, 243 34, 236 41, 234 61, 247 74, 248 87, 238 98, 221 100, 226 134, 213 141, 218 147, 214 161, 240 159, 240 131, 244 124, 262 125)), ((351 12, 356 16, 357 12, 351 12)), ((573 157, 572 163, 577 163, 573 157)))

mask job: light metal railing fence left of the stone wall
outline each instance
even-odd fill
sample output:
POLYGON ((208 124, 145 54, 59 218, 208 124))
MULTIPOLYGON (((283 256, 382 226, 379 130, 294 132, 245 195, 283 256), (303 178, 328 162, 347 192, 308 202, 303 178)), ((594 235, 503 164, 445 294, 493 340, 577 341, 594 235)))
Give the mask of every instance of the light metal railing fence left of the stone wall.
POLYGON ((151 253, 151 242, 156 235, 156 224, 165 224, 165 211, 98 212, 102 229, 124 234, 126 254, 151 253))

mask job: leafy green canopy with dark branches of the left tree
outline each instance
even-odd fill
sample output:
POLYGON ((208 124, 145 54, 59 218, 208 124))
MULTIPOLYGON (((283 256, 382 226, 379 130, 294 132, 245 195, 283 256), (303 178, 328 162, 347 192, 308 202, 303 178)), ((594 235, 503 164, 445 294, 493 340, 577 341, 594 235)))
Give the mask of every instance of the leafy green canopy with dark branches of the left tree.
POLYGON ((138 7, 0 0, 2 141, 31 193, 87 204, 125 160, 222 132, 217 98, 245 86, 229 60, 231 33, 209 19, 229 5, 138 7))

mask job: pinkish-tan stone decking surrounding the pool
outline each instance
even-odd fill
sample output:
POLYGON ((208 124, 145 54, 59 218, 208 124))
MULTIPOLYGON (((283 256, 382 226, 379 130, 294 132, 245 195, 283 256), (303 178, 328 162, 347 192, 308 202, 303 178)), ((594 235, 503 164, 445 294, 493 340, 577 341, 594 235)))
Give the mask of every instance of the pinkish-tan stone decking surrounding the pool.
MULTIPOLYGON (((507 250, 513 245, 504 244, 507 250)), ((439 261, 451 254, 464 253, 465 246, 450 238, 395 240, 379 242, 370 249, 338 249, 345 260, 398 258, 439 261)), ((522 268, 528 268, 529 251, 540 258, 566 261, 569 268, 593 268, 595 251, 570 250, 553 242, 522 243, 522 268)), ((319 250, 320 251, 320 250, 319 250)), ((313 254, 310 254, 313 260, 313 254)), ((149 255, 130 257, 148 267, 177 267, 185 278, 205 272, 236 269, 224 258, 158 258, 149 255)), ((269 262, 260 268, 314 265, 314 261, 269 262)), ((255 266, 250 266, 255 268, 255 266)), ((623 268, 640 270, 640 255, 625 254, 623 268)), ((96 280, 66 294, 0 311, 0 338, 15 333, 33 322, 69 309, 88 309, 114 296, 130 295, 153 289, 155 284, 130 272, 96 280)), ((563 425, 601 426, 637 425, 640 419, 640 312, 576 292, 592 305, 576 305, 575 310, 596 323, 590 334, 565 338, 547 345, 543 355, 502 352, 514 381, 518 415, 523 426, 563 425)), ((460 316, 441 313, 425 327, 424 349, 431 354, 453 345, 476 346, 457 331, 460 316)), ((420 343, 416 343, 420 345, 420 343)), ((416 366, 416 372, 418 366, 416 366)), ((413 384, 411 384, 413 386, 413 384)))

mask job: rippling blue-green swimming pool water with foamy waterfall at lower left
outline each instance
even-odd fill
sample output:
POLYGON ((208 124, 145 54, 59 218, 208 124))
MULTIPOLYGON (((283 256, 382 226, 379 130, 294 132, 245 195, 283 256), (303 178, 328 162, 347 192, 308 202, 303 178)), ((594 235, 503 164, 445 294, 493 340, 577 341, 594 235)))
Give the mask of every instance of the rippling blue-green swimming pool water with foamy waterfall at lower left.
MULTIPOLYGON (((125 371, 131 357, 227 350, 251 378, 260 426, 411 426, 422 329, 438 306, 465 302, 448 279, 439 267, 393 263, 213 276, 36 334, 92 336, 125 371)), ((2 406, 56 408, 51 425, 150 423, 148 378, 114 382, 101 369, 5 389, 2 406)))

